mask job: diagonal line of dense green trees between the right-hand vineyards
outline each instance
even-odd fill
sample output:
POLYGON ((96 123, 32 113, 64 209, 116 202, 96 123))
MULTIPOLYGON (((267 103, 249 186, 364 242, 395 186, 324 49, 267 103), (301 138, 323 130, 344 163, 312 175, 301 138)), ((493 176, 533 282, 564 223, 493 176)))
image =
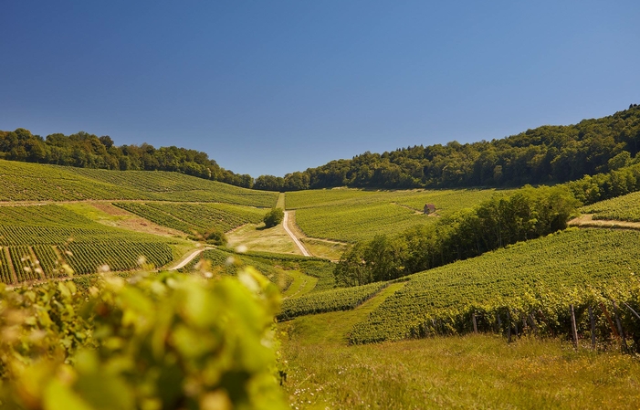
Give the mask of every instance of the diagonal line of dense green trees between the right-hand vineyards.
POLYGON ((358 286, 398 279, 456 260, 474 258, 566 228, 580 201, 563 186, 526 186, 496 194, 473 208, 412 226, 402 234, 356 243, 334 269, 336 282, 358 286))

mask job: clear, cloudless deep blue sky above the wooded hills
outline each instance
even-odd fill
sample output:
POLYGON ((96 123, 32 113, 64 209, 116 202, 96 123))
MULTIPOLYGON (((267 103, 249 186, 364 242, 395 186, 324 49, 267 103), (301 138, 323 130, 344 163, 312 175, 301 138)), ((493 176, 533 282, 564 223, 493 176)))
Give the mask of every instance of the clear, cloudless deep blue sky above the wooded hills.
POLYGON ((2 0, 0 130, 282 176, 624 110, 639 22, 637 0, 2 0))

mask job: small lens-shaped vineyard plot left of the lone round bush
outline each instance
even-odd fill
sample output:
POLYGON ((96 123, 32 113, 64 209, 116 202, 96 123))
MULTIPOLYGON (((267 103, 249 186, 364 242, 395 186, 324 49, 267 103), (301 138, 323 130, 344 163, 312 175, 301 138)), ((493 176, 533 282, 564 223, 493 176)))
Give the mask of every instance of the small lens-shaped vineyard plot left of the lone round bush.
POLYGON ((114 205, 155 224, 187 234, 204 233, 212 228, 227 232, 245 224, 258 224, 264 210, 227 204, 165 204, 119 202, 114 205))

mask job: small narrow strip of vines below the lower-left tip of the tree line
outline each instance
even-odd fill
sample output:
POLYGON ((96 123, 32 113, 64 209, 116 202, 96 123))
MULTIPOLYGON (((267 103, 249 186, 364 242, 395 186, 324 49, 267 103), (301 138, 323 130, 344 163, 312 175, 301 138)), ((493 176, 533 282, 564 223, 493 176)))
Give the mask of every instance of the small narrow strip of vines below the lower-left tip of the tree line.
POLYGON ((308 293, 299 298, 285 299, 282 301, 282 311, 278 314, 278 321, 325 311, 351 310, 372 298, 386 286, 384 283, 372 283, 347 289, 324 290, 308 293))

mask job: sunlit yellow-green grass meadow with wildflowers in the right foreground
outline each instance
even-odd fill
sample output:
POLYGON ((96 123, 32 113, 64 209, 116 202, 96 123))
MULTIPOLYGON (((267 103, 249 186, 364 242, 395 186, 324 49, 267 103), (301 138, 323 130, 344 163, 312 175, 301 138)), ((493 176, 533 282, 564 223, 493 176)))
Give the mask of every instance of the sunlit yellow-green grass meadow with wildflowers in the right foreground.
POLYGON ((284 343, 284 384, 299 409, 635 409, 640 363, 618 352, 498 336, 365 346, 284 343))

